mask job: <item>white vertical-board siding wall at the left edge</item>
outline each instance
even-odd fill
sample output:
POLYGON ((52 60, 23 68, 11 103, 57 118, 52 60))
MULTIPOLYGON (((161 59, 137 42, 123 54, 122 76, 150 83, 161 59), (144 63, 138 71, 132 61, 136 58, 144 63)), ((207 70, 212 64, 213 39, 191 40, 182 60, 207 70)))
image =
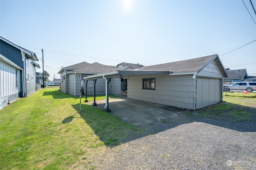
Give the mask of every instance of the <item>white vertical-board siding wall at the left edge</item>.
POLYGON ((20 70, 0 60, 0 109, 19 97, 20 70), (18 81, 16 84, 16 70, 18 81), (17 88, 16 88, 17 86, 17 88))

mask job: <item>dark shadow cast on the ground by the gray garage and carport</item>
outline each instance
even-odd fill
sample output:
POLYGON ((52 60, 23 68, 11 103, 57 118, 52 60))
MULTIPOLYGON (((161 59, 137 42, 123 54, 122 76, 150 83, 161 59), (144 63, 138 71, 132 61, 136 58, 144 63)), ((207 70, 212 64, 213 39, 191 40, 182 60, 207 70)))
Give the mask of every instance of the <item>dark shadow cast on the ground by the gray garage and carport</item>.
MULTIPOLYGON (((256 132, 256 109, 228 102, 220 102, 196 111, 179 110, 132 99, 110 103, 111 113, 103 111, 105 104, 84 104, 82 111, 79 111, 80 104, 72 106, 108 147, 193 122, 208 123, 241 132, 256 132)), ((63 120, 66 123, 70 121, 72 116, 63 120)))

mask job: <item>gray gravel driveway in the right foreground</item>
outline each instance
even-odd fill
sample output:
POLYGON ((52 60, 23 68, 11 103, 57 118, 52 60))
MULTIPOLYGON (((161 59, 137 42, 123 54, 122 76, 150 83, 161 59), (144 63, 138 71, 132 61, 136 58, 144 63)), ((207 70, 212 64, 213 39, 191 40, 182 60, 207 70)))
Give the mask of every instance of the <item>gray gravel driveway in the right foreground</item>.
POLYGON ((256 109, 250 121, 230 122, 178 111, 171 121, 138 127, 121 145, 94 156, 100 170, 256 169, 256 109))

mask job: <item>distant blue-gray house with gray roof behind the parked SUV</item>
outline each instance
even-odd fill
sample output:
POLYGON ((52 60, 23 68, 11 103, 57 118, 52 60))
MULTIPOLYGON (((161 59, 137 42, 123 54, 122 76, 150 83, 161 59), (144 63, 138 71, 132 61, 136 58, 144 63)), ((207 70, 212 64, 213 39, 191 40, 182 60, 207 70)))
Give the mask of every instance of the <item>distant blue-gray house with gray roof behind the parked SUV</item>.
POLYGON ((256 82, 256 76, 248 76, 246 69, 226 70, 228 77, 225 77, 223 84, 230 82, 256 82))

